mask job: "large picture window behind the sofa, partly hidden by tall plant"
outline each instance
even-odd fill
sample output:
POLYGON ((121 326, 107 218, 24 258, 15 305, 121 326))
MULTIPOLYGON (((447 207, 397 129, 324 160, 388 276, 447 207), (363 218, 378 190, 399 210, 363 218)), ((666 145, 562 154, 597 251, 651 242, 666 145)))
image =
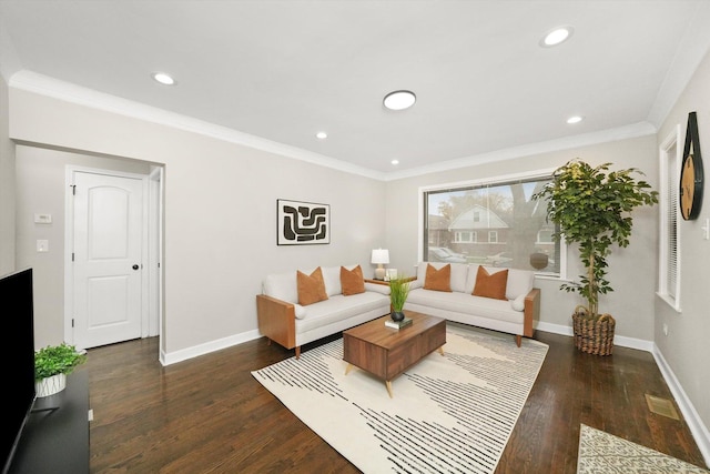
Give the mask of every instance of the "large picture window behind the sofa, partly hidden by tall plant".
POLYGON ((531 195, 551 172, 422 189, 424 260, 560 274, 560 242, 547 202, 531 195))

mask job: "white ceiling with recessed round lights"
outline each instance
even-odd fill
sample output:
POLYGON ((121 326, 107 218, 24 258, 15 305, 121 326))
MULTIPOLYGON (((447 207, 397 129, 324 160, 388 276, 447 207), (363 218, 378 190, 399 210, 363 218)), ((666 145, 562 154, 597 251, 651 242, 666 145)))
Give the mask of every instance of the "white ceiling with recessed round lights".
POLYGON ((709 3, 0 0, 0 72, 396 177, 653 133, 710 47, 709 3), (386 110, 398 89, 416 104, 386 110))

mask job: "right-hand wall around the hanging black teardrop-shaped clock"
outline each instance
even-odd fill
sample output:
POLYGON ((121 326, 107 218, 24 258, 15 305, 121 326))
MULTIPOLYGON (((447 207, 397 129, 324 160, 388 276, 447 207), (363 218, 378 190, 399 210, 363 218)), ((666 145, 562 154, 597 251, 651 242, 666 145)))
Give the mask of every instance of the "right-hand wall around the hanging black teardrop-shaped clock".
MULTIPOLYGON (((698 117, 707 181, 710 171, 710 54, 706 56, 663 122, 658 133, 659 142, 680 125, 681 142, 678 147, 682 151, 688 113, 692 111, 698 117)), ((710 425, 710 241, 703 239, 702 226, 709 218, 710 185, 706 183, 700 215, 694 221, 682 221, 679 231, 682 311, 676 312, 660 297, 655 301, 655 341, 661 357, 684 391, 680 399, 687 397, 704 424, 698 428, 704 431, 706 458, 710 458, 710 433, 707 430, 710 425), (668 335, 663 334, 663 324, 668 325, 668 335)))

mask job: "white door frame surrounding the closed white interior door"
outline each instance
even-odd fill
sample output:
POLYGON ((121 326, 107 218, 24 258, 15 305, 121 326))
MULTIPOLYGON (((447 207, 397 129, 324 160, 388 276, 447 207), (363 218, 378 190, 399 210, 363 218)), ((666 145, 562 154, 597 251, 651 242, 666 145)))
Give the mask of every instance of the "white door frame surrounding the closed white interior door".
POLYGON ((75 173, 103 174, 140 179, 143 185, 143 219, 141 234, 142 261, 148 265, 148 278, 141 282, 141 337, 161 335, 162 326, 162 168, 151 169, 150 174, 128 173, 98 168, 67 165, 64 174, 64 341, 74 343, 74 278, 72 252, 74 243, 74 205, 72 184, 75 173), (158 171, 156 171, 158 170, 158 171), (152 321, 151 321, 152 319, 152 321))

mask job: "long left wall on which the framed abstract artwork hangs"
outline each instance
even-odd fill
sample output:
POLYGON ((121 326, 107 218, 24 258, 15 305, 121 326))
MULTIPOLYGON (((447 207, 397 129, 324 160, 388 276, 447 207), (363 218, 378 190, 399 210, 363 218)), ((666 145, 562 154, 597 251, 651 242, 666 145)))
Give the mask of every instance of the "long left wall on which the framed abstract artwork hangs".
POLYGON ((169 361, 257 336, 266 273, 349 263, 367 273, 384 244, 382 181, 13 88, 10 115, 10 138, 28 145, 164 164, 169 361), (329 204, 331 244, 277 246, 277 199, 329 204))

